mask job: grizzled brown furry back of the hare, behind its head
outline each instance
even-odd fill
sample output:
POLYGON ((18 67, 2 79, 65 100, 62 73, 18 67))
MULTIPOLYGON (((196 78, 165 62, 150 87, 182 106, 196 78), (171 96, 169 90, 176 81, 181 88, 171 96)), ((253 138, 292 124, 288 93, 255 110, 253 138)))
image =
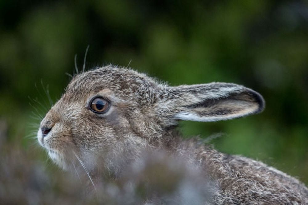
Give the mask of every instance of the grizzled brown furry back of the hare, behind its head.
POLYGON ((308 189, 297 179, 262 162, 196 144, 193 140, 178 146, 195 152, 218 183, 214 204, 308 204, 308 189))

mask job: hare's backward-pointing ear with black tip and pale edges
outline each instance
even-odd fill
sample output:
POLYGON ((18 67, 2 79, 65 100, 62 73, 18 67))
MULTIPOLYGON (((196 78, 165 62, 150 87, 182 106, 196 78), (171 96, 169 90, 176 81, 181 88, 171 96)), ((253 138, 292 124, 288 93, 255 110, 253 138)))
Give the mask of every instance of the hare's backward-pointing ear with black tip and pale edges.
POLYGON ((212 122, 229 120, 261 112, 263 97, 232 83, 182 85, 169 89, 173 101, 173 119, 212 122))

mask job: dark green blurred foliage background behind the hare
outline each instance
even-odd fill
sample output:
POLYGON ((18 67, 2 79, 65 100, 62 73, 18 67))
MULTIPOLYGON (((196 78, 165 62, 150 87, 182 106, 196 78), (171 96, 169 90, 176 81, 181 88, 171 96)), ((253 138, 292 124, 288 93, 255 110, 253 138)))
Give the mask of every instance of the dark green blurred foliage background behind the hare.
POLYGON ((186 137, 222 133, 210 142, 221 152, 264 161, 308 184, 307 1, 1 0, 2 146, 46 159, 31 139, 38 128, 31 128, 32 112, 50 108, 41 80, 59 99, 65 73, 74 72, 75 54, 82 68, 87 45, 87 69, 129 64, 170 85, 222 81, 258 91, 263 113, 181 122, 181 130, 186 137))

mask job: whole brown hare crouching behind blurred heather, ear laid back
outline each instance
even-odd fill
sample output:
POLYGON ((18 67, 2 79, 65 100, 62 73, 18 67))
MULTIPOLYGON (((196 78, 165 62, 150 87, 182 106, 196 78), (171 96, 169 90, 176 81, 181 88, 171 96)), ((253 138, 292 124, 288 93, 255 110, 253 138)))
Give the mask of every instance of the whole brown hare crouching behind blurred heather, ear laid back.
POLYGON ((184 140, 179 120, 212 122, 256 114, 263 97, 241 85, 168 86, 132 69, 108 65, 73 77, 40 123, 38 141, 70 169, 75 156, 89 175, 99 165, 118 178, 144 151, 166 150, 196 164, 218 185, 211 204, 308 204, 308 189, 262 162, 184 140))

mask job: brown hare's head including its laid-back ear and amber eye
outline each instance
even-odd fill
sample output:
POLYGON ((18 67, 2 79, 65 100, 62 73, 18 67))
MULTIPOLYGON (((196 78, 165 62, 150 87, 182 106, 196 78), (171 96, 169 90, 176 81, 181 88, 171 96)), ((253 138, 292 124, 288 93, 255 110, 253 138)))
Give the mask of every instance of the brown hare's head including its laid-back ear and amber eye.
POLYGON ((168 86, 110 65, 73 77, 41 121, 38 140, 59 166, 68 168, 75 155, 92 169, 98 160, 113 166, 119 153, 129 160, 164 146, 178 120, 229 120, 263 108, 261 95, 241 85, 168 86))

